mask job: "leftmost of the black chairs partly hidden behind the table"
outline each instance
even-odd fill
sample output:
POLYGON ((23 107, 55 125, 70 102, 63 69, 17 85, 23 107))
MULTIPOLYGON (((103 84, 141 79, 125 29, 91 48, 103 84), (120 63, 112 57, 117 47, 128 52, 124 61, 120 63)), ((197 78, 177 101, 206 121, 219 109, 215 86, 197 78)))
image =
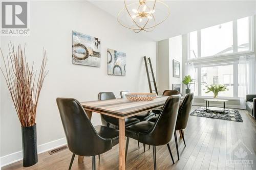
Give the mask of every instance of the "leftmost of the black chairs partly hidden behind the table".
MULTIPOLYGON (((98 95, 100 101, 116 99, 113 92, 100 92, 98 95)), ((119 129, 119 119, 108 115, 100 114, 102 125, 119 129)), ((134 117, 125 118, 125 127, 139 123, 140 120, 134 117)))

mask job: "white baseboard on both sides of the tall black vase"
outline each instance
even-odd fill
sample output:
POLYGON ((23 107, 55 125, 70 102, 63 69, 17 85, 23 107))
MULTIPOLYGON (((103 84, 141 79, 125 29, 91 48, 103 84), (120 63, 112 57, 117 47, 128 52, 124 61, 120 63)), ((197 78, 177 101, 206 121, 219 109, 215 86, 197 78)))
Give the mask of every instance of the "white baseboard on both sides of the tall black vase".
MULTIPOLYGON (((47 152, 49 150, 52 150, 54 148, 58 148, 61 145, 67 144, 66 138, 57 139, 48 143, 40 144, 37 146, 37 153, 43 153, 47 152)), ((23 153, 22 151, 18 151, 9 155, 2 156, 0 158, 1 165, 0 167, 12 164, 14 162, 20 161, 23 159, 23 153)))

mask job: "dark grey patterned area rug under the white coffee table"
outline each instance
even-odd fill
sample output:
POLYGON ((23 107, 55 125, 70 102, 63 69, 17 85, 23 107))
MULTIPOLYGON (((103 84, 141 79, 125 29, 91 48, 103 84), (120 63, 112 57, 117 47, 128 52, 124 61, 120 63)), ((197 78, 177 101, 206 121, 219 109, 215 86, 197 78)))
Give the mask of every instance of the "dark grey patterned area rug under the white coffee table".
POLYGON ((199 117, 208 117, 208 118, 218 118, 223 120, 230 120, 234 122, 243 122, 242 117, 238 110, 236 109, 227 109, 225 114, 223 111, 211 111, 207 110, 205 107, 198 107, 195 111, 190 113, 192 116, 199 116, 199 117))

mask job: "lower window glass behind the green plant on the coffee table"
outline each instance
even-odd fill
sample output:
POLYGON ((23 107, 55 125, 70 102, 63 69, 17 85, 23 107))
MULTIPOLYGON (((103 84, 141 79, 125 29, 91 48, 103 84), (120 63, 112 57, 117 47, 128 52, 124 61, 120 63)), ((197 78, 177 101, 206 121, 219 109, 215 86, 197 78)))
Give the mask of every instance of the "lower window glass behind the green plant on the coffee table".
POLYGON ((212 96, 212 92, 205 93, 207 91, 207 85, 211 84, 224 84, 229 89, 228 91, 222 91, 218 95, 233 97, 233 65, 220 65, 201 67, 201 95, 212 96))

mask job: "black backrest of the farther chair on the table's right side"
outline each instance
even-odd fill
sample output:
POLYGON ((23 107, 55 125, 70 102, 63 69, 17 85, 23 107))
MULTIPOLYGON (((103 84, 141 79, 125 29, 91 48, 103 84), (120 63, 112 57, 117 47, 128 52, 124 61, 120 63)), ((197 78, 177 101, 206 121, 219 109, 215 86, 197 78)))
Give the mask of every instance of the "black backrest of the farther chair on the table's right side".
POLYGON ((188 93, 185 96, 179 108, 177 123, 175 128, 176 130, 182 130, 186 128, 193 98, 194 98, 194 93, 188 93))

